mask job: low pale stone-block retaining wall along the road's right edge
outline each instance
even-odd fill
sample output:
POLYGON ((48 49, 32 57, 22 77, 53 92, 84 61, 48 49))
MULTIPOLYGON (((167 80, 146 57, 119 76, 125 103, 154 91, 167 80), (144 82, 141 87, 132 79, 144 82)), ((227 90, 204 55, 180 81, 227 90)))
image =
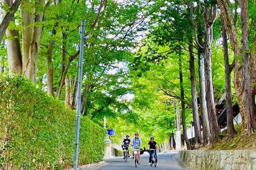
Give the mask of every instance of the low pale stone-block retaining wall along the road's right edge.
POLYGON ((180 158, 191 169, 255 170, 256 151, 179 151, 180 158))

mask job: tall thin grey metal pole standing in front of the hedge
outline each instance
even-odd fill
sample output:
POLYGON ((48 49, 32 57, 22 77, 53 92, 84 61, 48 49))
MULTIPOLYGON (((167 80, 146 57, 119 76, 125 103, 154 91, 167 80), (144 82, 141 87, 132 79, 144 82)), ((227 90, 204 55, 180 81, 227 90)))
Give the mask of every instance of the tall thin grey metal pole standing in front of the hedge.
POLYGON ((82 89, 82 72, 83 72, 83 55, 84 55, 84 38, 85 38, 85 21, 80 26, 80 56, 79 56, 79 72, 77 87, 77 112, 76 112, 76 139, 74 143, 74 170, 77 169, 78 146, 79 146, 79 125, 81 112, 81 89, 82 89))

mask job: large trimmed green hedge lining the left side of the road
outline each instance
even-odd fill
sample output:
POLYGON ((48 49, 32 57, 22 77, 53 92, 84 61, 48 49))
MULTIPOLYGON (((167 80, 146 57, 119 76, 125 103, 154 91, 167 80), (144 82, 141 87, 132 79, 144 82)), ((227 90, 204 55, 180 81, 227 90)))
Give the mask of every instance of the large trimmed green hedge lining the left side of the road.
MULTIPOLYGON (((0 76, 0 168, 73 166, 76 111, 23 77, 0 76)), ((80 118, 79 164, 101 161, 105 130, 80 118)))

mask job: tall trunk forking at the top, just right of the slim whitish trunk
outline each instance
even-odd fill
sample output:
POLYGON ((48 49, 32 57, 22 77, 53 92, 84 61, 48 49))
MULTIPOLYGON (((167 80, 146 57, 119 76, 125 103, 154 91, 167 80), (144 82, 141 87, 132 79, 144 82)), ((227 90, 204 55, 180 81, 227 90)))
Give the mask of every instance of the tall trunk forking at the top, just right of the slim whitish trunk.
MULTIPOLYGON (((206 3, 206 2, 204 2, 206 3)), ((212 82, 212 39, 213 39, 213 23, 216 18, 216 6, 208 9, 207 4, 204 4, 204 29, 205 29, 205 47, 204 47, 204 60, 205 60, 205 88, 206 88, 206 101, 207 112, 210 124, 210 132, 212 135, 213 143, 219 139, 219 126, 216 117, 215 101, 213 95, 213 82, 212 82)))

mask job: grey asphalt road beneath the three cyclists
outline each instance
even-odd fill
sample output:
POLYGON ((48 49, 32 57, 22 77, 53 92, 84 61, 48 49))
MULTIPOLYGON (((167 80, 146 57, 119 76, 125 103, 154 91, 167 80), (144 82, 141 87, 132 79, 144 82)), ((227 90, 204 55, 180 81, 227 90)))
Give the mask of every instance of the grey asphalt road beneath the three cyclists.
POLYGON ((129 169, 173 169, 173 170, 181 170, 188 169, 185 165, 183 165, 182 161, 180 161, 178 153, 160 153, 157 154, 158 165, 157 167, 150 166, 148 164, 149 155, 141 155, 141 165, 137 165, 135 168, 134 160, 130 157, 127 162, 124 161, 123 157, 115 157, 115 158, 107 158, 104 163, 98 166, 90 167, 88 169, 104 169, 104 170, 129 170, 129 169))

